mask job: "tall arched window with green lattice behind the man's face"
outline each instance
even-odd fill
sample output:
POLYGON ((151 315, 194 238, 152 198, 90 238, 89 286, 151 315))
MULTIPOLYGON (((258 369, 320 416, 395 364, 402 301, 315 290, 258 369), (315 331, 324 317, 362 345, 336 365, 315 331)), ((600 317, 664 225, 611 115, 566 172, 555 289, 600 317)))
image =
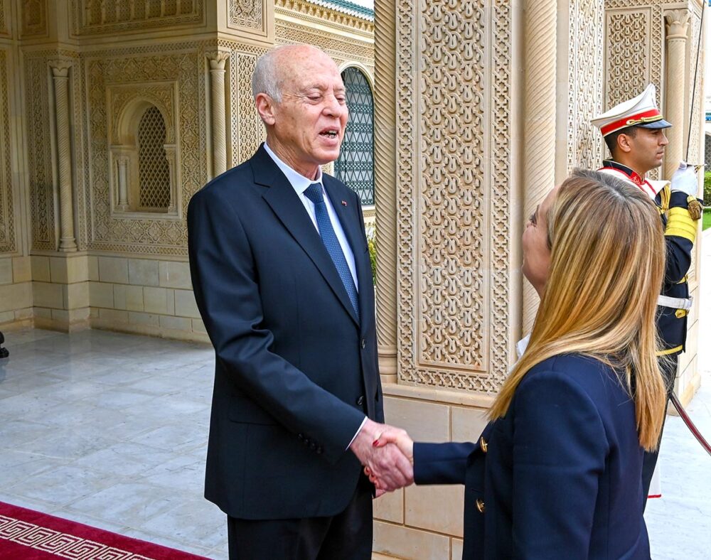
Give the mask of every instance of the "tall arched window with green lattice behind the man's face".
POLYGON ((336 160, 336 177, 355 190, 363 205, 375 203, 373 188, 373 91, 363 72, 346 68, 341 72, 346 85, 348 126, 341 155, 336 160))

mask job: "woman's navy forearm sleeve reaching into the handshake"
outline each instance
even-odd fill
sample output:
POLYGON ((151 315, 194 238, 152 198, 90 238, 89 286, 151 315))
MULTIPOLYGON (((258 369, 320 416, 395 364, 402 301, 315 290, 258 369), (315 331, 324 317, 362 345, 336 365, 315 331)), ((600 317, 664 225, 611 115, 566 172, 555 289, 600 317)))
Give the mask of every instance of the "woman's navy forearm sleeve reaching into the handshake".
POLYGON ((412 448, 415 484, 464 484, 475 443, 417 443, 412 448))

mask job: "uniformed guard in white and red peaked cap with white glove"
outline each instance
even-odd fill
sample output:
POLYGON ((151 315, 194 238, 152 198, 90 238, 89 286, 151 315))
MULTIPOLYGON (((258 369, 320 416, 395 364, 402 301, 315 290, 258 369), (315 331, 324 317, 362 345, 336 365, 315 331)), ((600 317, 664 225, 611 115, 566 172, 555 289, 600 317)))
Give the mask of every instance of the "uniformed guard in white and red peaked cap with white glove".
MULTIPOLYGON (((667 247, 666 274, 657 307, 657 328, 661 348, 657 354, 667 384, 673 391, 678 357, 685 350, 686 323, 691 308, 686 274, 701 217, 701 201, 696 194, 698 182, 694 166, 681 162, 671 181, 651 181, 646 173, 662 164, 668 139, 665 121, 656 104, 655 87, 650 84, 640 95, 612 107, 593 119, 610 151, 599 171, 633 183, 647 193, 659 209, 667 247)), ((650 483, 658 451, 645 453, 642 469, 644 495, 650 495, 650 483)), ((653 491, 651 495, 658 492, 653 491)))

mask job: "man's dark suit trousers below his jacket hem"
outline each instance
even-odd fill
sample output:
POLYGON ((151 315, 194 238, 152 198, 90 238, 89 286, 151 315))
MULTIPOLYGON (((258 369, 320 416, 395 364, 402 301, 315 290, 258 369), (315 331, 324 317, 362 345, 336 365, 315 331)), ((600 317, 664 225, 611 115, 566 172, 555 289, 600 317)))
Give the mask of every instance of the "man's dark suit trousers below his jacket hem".
POLYGON ((361 475, 351 502, 333 517, 252 520, 228 516, 230 560, 370 560, 372 490, 361 475))

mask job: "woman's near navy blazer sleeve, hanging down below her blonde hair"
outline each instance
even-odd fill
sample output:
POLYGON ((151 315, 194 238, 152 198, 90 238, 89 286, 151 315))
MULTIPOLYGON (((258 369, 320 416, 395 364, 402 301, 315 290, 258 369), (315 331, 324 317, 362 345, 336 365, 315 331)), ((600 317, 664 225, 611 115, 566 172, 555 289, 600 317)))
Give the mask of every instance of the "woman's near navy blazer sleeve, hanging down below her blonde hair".
POLYGON ((587 558, 609 451, 597 406, 561 372, 525 377, 512 406, 514 556, 587 558))

